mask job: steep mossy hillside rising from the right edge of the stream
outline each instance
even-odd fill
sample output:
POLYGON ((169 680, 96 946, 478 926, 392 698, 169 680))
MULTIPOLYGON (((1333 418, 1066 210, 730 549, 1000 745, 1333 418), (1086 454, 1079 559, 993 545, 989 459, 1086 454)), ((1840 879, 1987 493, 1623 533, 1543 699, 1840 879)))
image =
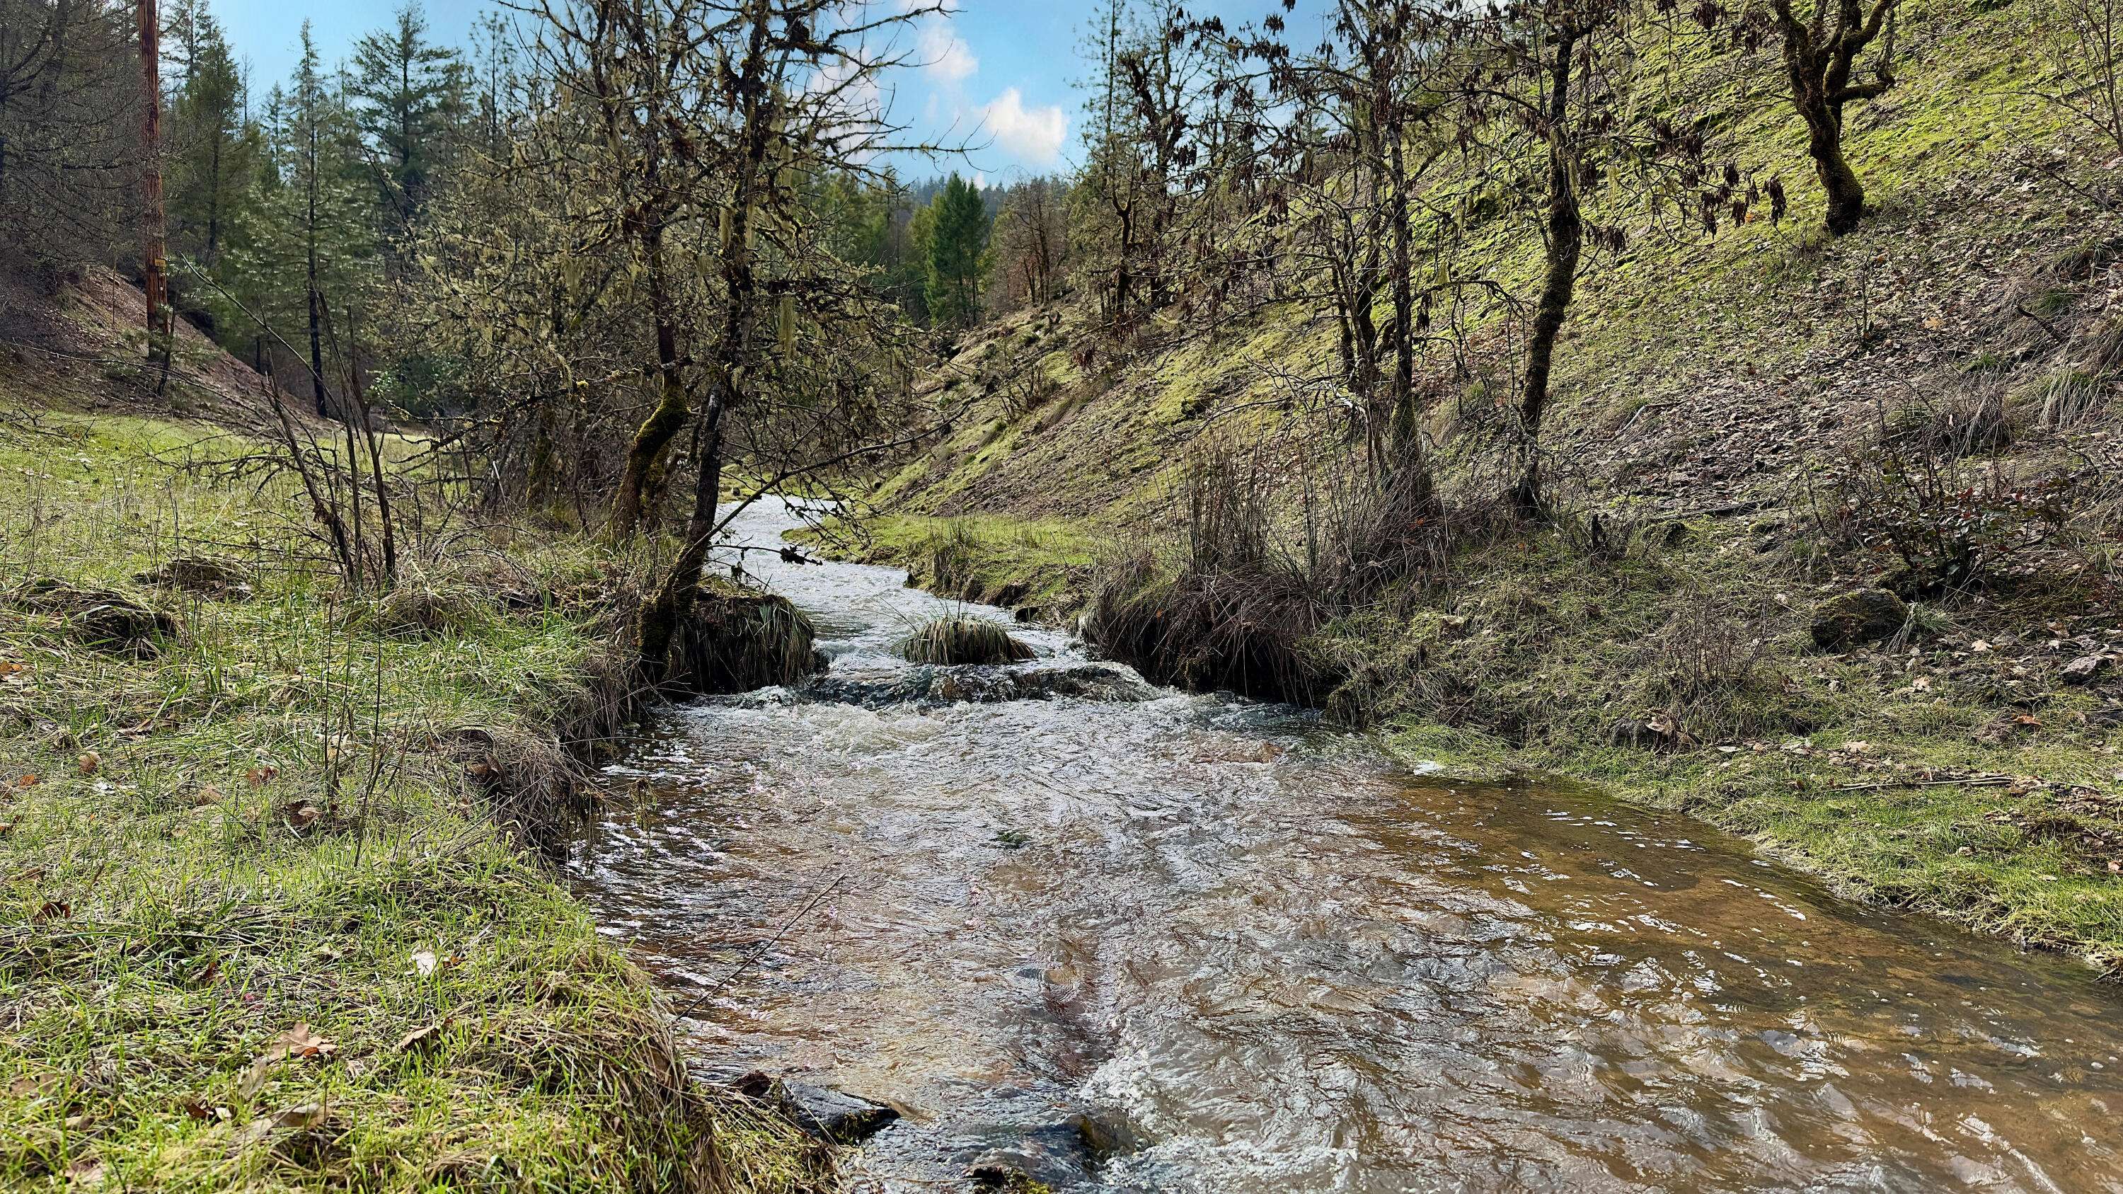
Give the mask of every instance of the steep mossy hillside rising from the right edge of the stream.
MULTIPOLYGON (((934 382, 966 414, 881 482, 862 550, 964 595, 1089 612, 1159 678, 1297 695, 1456 773, 1686 807, 1851 894, 2115 969, 2123 219, 2057 183, 2104 159, 2032 93, 2049 68, 2030 19, 1904 13, 1900 83, 1851 110, 1875 210, 1845 238, 1819 232, 1773 47, 1684 64, 1790 215, 1715 236, 1643 221, 1586 270, 1541 438, 1546 521, 1495 510, 1497 372, 1433 355, 1448 557, 1325 610, 1276 605, 1280 580, 1219 586, 1187 544, 1197 561, 1202 501, 1233 470, 1274 495, 1263 518, 1297 559, 1314 533, 1299 497, 1357 467, 1354 431, 1293 385, 1333 353, 1331 317, 1168 317, 1117 344, 1064 300, 966 338, 934 382), (1909 584, 1875 533, 1979 508, 2006 527, 1981 582, 1909 584), (1839 631, 1849 601, 1892 625, 1839 631)), ((1503 287, 1537 268, 1524 223, 1475 246, 1503 287)), ((1475 325, 1465 355, 1507 359, 1507 336, 1475 325)))

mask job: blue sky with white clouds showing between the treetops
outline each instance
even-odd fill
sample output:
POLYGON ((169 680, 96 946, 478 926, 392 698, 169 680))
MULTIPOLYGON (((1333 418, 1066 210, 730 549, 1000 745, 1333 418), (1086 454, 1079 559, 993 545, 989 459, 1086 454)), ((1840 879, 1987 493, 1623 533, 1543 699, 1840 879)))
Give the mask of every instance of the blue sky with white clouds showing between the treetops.
MULTIPOLYGON (((890 0, 881 0, 890 2, 890 0)), ((325 62, 346 57, 361 34, 393 19, 395 2, 210 0, 229 40, 265 91, 287 79, 299 55, 301 21, 310 19, 325 62)), ((425 0, 435 40, 463 42, 480 0, 425 0)), ((902 174, 968 170, 983 178, 1064 170, 1078 157, 1081 113, 1074 83, 1089 76, 1081 57, 1083 28, 1098 4, 1038 0, 957 0, 947 17, 926 19, 913 36, 919 66, 885 81, 892 117, 932 140, 972 140, 964 161, 919 161, 902 174)), ((1210 0, 1193 6, 1227 21, 1280 8, 1278 0, 1210 0)))

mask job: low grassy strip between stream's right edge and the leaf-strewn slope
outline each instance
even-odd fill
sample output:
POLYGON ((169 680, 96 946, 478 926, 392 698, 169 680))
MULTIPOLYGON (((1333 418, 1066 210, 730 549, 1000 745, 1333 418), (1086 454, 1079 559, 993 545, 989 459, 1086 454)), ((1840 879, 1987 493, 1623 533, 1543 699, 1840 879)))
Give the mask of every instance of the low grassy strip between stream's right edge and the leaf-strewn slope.
MULTIPOLYGON (((1051 574, 1053 535, 898 516, 868 557, 972 597, 1051 574), (979 567, 926 565, 945 552, 979 567)), ((1304 648, 1337 678, 1327 705, 1410 763, 1588 780, 1856 899, 2123 969, 2123 693, 2112 667, 2064 676, 2123 639, 2083 582, 1919 601, 1887 642, 1828 652, 1809 622, 1847 582, 1815 576, 1802 538, 1777 516, 1698 518, 1596 552, 1569 527, 1518 529, 1304 648)), ((1091 559, 1100 538, 1064 542, 1091 559)), ((1093 593, 1078 567, 1072 593, 1093 593)))

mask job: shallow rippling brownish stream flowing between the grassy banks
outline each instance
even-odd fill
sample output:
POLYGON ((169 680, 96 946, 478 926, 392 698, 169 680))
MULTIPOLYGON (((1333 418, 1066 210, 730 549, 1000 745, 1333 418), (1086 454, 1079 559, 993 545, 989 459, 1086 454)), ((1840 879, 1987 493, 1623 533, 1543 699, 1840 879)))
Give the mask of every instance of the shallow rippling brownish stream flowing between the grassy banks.
POLYGON ((832 699, 667 712, 573 869, 703 1056, 902 1111, 858 1188, 1002 1149, 1055 1190, 2123 1190, 2123 999, 2068 960, 1289 707, 881 703, 949 605, 764 572, 832 699))

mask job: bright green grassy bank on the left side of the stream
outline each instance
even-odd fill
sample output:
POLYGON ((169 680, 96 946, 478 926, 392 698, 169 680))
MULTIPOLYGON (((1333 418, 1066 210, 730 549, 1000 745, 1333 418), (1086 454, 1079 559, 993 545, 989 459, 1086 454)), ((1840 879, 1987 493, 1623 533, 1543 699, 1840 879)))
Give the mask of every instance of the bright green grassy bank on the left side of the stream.
POLYGON ((0 1186, 800 1190, 524 826, 622 695, 624 565, 507 529, 397 597, 206 427, 0 427, 0 1186), (212 555, 251 593, 134 578, 212 555), (110 589, 170 616, 110 639, 110 589), (106 642, 98 642, 106 639, 106 642))

